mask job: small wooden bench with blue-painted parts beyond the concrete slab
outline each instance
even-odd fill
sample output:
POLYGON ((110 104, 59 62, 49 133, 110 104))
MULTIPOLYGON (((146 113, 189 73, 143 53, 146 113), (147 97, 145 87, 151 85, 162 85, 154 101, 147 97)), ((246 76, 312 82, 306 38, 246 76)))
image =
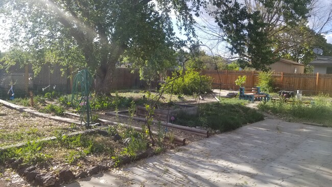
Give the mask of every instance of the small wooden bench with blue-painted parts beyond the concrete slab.
POLYGON ((260 87, 253 87, 253 88, 240 87, 239 99, 245 99, 254 102, 255 100, 269 101, 270 97, 268 93, 260 92, 260 87))

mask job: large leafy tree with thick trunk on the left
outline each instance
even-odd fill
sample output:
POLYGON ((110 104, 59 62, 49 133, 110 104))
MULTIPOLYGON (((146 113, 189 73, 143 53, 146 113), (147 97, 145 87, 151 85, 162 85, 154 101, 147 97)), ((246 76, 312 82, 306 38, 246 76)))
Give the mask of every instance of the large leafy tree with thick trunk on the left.
POLYGON ((177 15, 180 29, 191 40, 195 36, 192 12, 198 15, 203 3, 3 0, 0 14, 9 22, 9 42, 15 49, 38 59, 38 64, 87 67, 95 75, 96 91, 109 93, 115 63, 120 57, 139 59, 135 61, 139 66, 162 63, 160 59, 167 59, 172 50, 182 46, 183 41, 173 32, 171 10, 177 15))

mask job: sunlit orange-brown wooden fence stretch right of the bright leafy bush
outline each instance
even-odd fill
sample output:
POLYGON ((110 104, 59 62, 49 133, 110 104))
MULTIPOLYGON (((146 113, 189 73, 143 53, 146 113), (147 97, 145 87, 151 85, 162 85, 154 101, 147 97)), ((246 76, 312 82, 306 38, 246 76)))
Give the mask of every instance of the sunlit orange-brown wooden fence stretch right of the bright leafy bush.
MULTIPOLYGON (((258 84, 257 71, 230 71, 230 70, 203 70, 201 75, 213 78, 214 88, 239 89, 235 85, 235 80, 239 76, 247 76, 244 86, 252 87, 258 84)), ((302 90, 304 93, 332 93, 331 74, 293 74, 283 72, 273 72, 275 86, 280 90, 302 90)))

